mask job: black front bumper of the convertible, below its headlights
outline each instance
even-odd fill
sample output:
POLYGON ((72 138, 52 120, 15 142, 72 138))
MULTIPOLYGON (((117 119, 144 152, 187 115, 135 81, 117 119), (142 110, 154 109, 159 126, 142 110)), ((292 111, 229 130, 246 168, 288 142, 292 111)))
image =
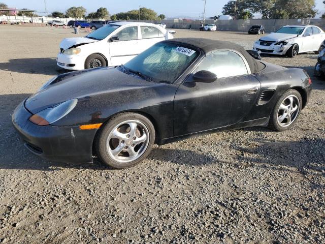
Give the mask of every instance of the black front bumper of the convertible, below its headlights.
POLYGON ((97 130, 80 130, 78 126, 37 126, 29 121, 32 114, 24 102, 12 115, 12 123, 26 148, 52 161, 92 162, 92 143, 97 130))

